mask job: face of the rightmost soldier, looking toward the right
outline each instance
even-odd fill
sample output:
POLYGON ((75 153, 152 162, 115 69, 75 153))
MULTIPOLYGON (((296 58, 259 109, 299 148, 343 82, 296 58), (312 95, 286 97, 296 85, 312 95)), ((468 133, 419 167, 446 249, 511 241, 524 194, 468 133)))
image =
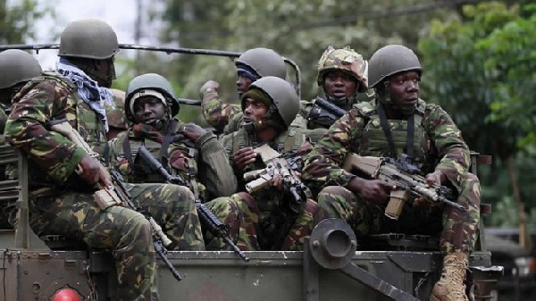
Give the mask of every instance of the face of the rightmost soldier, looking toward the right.
POLYGON ((413 106, 419 98, 419 73, 407 71, 389 79, 390 98, 395 105, 413 106))

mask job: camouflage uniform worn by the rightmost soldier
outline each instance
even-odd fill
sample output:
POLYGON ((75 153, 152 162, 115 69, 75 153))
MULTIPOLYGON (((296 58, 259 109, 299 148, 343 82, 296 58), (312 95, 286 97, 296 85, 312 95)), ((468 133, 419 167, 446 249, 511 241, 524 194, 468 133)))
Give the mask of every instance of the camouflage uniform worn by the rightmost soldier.
MULTIPOLYGON (((439 105, 419 100, 415 116, 419 116, 415 118, 415 163, 423 175, 443 171, 448 184, 459 193, 457 203, 464 205, 468 213, 460 213, 450 206, 406 205, 398 222, 394 222, 383 215, 386 204, 365 202, 345 188, 354 177, 340 167, 346 154, 389 154, 389 144, 373 103, 358 105, 331 126, 306 156, 304 180, 312 187, 325 187, 318 196, 321 218, 345 219, 358 236, 385 231, 440 232, 443 251, 468 253, 473 249, 480 218, 480 183, 468 172, 469 149, 456 124, 439 105), (331 164, 329 170, 321 167, 324 162, 331 164), (326 187, 329 185, 336 186, 326 187)), ((389 127, 398 153, 402 153, 406 146, 407 120, 389 120, 389 127)))

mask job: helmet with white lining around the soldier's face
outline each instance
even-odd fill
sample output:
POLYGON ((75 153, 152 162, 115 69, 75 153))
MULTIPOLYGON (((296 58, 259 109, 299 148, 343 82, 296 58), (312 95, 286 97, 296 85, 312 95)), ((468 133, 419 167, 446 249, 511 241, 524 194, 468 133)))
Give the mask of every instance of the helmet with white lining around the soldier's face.
POLYGON ((125 111, 129 120, 133 119, 134 101, 142 96, 160 98, 164 105, 171 107, 172 116, 178 114, 180 110, 179 99, 177 99, 173 91, 172 84, 160 74, 146 73, 138 75, 130 81, 126 94, 125 111), (162 96, 165 99, 162 99, 162 96))

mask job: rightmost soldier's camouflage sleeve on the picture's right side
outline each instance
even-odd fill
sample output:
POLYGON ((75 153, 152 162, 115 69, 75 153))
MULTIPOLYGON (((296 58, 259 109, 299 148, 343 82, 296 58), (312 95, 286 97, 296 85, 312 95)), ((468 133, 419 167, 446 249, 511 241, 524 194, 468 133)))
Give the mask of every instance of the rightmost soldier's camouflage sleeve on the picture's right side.
POLYGON ((423 125, 440 156, 440 163, 435 170, 443 172, 460 191, 471 164, 469 147, 465 144, 461 131, 439 105, 431 106, 429 113, 424 116, 423 125))

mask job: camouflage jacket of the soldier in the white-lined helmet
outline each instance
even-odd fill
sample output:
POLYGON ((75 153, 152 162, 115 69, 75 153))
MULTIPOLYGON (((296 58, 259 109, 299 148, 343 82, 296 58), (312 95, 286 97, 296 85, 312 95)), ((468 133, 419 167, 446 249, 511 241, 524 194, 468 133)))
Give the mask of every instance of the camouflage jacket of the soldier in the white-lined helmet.
MULTIPOLYGON (((211 131, 207 131, 204 135, 197 139, 194 143, 189 138, 178 134, 180 126, 183 124, 178 119, 175 119, 174 135, 168 147, 167 154, 167 170, 171 171, 172 175, 179 176, 189 183, 189 188, 198 192, 201 200, 209 200, 218 196, 230 196, 235 192, 237 180, 234 176, 232 168, 229 164, 227 153, 223 150, 222 145, 216 139, 211 131), (194 187, 195 185, 195 187, 194 187)), ((125 176, 125 179, 130 179, 130 164, 125 156, 123 143, 128 138, 130 143, 131 158, 136 158, 138 147, 144 145, 147 150, 160 158, 162 144, 151 138, 139 138, 133 133, 132 127, 128 132, 122 132, 117 138, 111 141, 113 149, 114 165, 118 167, 125 176)), ((137 159, 139 160, 139 159, 137 159)), ((159 161, 162 162, 160 159, 159 161)), ((147 163, 134 161, 136 168, 147 166, 147 163)), ((146 179, 151 176, 153 181, 162 182, 164 179, 159 175, 151 175, 148 169, 141 171, 146 173, 146 179)), ((132 180, 132 179, 130 179, 132 180)), ((134 180, 135 182, 138 180, 134 180)))

